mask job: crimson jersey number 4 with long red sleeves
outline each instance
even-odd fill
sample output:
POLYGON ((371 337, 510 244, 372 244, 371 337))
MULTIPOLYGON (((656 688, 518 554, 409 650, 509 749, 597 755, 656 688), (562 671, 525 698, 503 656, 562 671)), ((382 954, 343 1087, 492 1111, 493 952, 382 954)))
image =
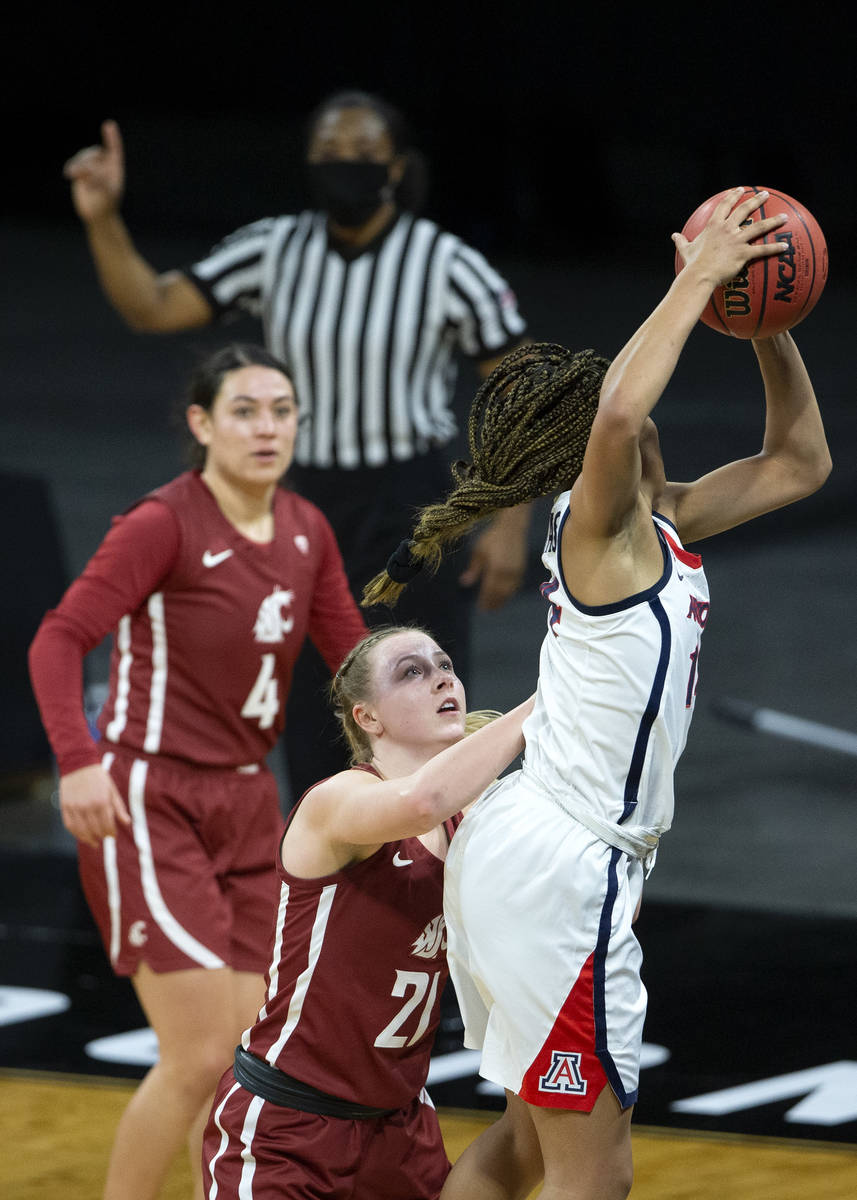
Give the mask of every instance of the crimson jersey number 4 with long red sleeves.
POLYGON ((277 487, 274 529, 264 545, 240 534, 199 472, 114 520, 31 652, 61 772, 100 758, 79 715, 79 662, 112 630, 102 752, 115 744, 212 767, 264 758, 305 636, 332 672, 366 632, 319 509, 277 487))

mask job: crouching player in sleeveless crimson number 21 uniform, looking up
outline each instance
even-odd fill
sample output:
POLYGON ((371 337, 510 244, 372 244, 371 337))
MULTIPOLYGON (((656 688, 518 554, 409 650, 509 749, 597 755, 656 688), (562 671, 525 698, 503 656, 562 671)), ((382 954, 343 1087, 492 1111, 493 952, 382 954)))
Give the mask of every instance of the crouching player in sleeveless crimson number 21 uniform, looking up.
POLYGON ((466 733, 422 630, 368 635, 334 685, 353 751, 293 809, 268 990, 221 1080, 206 1195, 421 1200, 449 1171, 425 1092, 447 980, 443 871, 468 805, 515 758, 532 701, 466 733))

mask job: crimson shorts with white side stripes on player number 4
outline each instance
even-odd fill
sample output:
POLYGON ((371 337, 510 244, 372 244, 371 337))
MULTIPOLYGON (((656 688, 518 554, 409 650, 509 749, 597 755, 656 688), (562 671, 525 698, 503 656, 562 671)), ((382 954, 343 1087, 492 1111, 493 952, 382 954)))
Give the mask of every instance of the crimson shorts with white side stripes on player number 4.
POLYGON ((108 752, 131 826, 78 842, 83 889, 116 974, 223 967, 264 974, 283 829, 276 781, 108 752))

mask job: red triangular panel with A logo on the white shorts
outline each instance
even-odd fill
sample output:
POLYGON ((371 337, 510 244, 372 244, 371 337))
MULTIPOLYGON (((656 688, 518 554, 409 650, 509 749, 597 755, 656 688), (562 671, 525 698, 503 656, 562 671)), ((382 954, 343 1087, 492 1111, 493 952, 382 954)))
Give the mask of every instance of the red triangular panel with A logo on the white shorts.
POLYGON ((519 1096, 528 1104, 591 1112, 607 1082, 595 1054, 594 958, 593 950, 523 1076, 519 1096))

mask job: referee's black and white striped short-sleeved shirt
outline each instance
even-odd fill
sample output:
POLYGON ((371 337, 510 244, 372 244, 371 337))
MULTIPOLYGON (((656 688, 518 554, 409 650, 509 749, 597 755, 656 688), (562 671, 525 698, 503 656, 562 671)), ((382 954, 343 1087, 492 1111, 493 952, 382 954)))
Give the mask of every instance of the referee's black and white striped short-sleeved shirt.
POLYGON ((245 226, 188 275, 216 313, 262 319, 301 412, 295 461, 376 467, 455 434, 455 353, 493 358, 526 325, 509 284, 432 221, 402 214, 346 258, 322 212, 245 226))

